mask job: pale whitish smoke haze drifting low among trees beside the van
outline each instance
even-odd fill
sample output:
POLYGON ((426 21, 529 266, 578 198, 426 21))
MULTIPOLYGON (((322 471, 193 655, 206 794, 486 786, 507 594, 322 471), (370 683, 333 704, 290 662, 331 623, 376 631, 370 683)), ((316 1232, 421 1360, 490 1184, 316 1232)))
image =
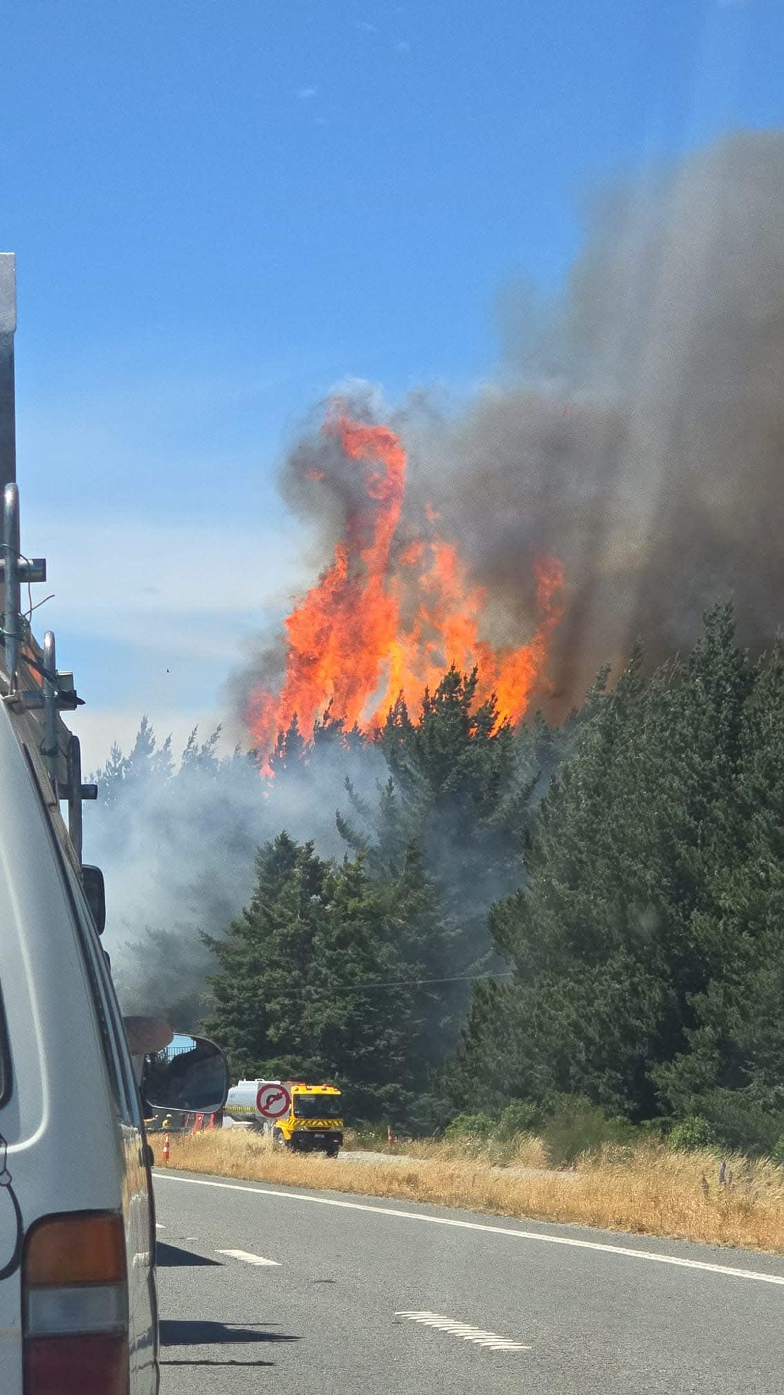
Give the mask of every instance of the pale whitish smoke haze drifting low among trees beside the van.
POLYGON ((335 813, 349 808, 346 776, 372 801, 386 766, 374 749, 321 742, 269 788, 255 763, 222 757, 195 735, 172 762, 146 724, 117 757, 98 771, 99 802, 85 808, 85 857, 106 877, 105 949, 124 1011, 194 1030, 213 967, 202 932, 219 939, 250 901, 257 848, 286 829, 322 857, 342 855, 335 813))

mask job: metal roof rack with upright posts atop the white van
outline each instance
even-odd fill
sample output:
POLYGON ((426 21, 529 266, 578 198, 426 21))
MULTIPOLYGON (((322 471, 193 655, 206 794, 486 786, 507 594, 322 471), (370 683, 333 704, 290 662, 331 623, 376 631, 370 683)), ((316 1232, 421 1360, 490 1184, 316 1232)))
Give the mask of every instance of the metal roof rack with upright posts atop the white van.
MULTIPOLYGON (((54 635, 46 631, 38 644, 31 626, 32 603, 22 610, 22 586, 46 580, 46 559, 27 557, 20 543, 20 490, 17 484, 14 333, 17 329, 17 262, 14 252, 0 252, 0 593, 3 650, 0 700, 22 718, 46 769, 53 802, 67 801, 68 833, 80 866, 82 857, 82 799, 98 798, 98 785, 82 784, 81 746, 60 717, 82 706, 74 675, 57 668, 54 635)), ((31 594, 31 593, 28 593, 31 594)))

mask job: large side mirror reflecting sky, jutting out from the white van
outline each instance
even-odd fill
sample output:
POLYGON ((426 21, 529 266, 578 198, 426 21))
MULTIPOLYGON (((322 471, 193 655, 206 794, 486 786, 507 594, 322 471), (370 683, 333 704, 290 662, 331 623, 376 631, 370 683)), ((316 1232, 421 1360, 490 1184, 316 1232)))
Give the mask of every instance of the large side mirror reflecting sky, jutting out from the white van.
POLYGON ((151 1109, 216 1115, 227 1092, 226 1057, 206 1036, 176 1032, 169 1046, 144 1057, 141 1096, 151 1109))

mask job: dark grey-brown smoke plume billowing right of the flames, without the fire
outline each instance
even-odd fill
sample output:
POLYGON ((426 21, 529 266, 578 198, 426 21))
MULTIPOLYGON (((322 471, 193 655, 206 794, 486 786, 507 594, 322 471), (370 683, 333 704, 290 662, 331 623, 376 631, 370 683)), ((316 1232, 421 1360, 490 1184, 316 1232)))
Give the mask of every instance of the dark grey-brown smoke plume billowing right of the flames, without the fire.
MULTIPOLYGON (((410 453, 400 538, 432 502, 487 590, 487 638, 533 633, 534 559, 562 559, 536 695, 554 714, 638 636, 650 663, 688 646, 717 598, 763 646, 784 594, 784 137, 739 133, 617 180, 586 225, 558 301, 502 297, 494 384, 452 414, 419 393, 391 416, 410 453)), ((353 407, 367 420, 372 403, 353 407)), ((353 502, 335 455, 308 423, 282 469, 290 506, 321 523, 318 565, 353 502)), ((280 656, 259 646, 240 700, 280 656)))

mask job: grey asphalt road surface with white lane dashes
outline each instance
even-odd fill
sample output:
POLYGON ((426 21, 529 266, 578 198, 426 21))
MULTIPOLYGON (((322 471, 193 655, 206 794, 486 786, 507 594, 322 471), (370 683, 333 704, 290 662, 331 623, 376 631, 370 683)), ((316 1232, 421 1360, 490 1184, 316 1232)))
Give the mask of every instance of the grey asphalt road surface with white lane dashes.
POLYGON ((162 1395, 784 1389, 778 1257, 176 1172, 155 1194, 162 1395))

